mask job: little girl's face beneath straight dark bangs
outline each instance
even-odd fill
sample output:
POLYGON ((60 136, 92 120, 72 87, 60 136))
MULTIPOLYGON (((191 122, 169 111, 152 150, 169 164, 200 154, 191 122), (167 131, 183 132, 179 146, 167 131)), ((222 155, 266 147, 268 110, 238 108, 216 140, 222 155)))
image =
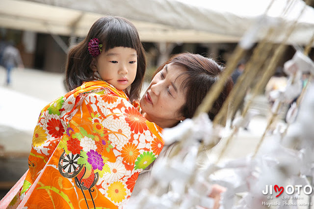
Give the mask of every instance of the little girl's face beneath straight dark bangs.
POLYGON ((131 85, 136 77, 136 50, 126 47, 115 47, 102 52, 93 58, 91 69, 100 77, 116 87, 124 90, 131 85))

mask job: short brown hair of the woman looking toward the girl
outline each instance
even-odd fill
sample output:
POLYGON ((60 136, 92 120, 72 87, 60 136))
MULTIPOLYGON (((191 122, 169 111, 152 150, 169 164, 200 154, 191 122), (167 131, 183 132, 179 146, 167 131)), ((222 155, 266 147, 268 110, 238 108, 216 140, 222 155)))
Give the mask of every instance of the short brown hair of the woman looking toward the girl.
MULTIPOLYGON (((175 63, 183 66, 186 71, 179 77, 186 78, 181 84, 185 94, 185 104, 179 110, 185 118, 192 118, 197 107, 202 103, 210 87, 215 83, 224 70, 215 60, 206 58, 200 54, 180 53, 175 54, 163 63, 156 71, 155 75, 163 69, 166 64, 175 63)), ((178 78, 179 78, 178 77, 178 78)), ((224 85, 222 92, 209 110, 209 118, 214 119, 219 112, 228 94, 233 88, 232 78, 229 77, 224 85)))

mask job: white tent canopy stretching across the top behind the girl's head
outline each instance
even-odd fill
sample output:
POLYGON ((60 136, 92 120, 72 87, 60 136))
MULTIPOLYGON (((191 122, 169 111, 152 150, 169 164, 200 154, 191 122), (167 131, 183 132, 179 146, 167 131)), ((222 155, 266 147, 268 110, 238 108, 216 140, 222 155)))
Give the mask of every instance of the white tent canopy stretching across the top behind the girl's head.
POLYGON ((1 27, 83 37, 99 17, 113 15, 131 20, 147 42, 238 42, 253 26, 261 39, 263 14, 282 24, 274 42, 295 20, 288 44, 306 45, 314 34, 314 8, 302 0, 0 0, 1 27))

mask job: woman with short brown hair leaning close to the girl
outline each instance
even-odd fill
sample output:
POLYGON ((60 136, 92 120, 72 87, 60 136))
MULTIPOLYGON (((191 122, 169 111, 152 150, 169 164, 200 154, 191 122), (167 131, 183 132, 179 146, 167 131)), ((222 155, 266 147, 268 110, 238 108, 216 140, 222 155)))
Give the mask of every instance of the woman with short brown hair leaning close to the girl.
MULTIPOLYGON (((140 101, 142 114, 159 127, 174 127, 181 120, 191 118, 196 108, 201 104, 211 85, 219 79, 223 67, 214 60, 199 54, 181 53, 172 56, 156 71, 153 80, 140 101)), ((233 81, 228 78, 223 91, 209 111, 213 120, 223 102, 233 87, 233 81)), ((159 157, 167 157, 174 145, 162 149, 159 157)), ((131 200, 151 181, 150 164, 142 172, 133 188, 131 200)), ((224 187, 213 185, 209 197, 215 201, 214 208, 219 208, 220 193, 224 187)))

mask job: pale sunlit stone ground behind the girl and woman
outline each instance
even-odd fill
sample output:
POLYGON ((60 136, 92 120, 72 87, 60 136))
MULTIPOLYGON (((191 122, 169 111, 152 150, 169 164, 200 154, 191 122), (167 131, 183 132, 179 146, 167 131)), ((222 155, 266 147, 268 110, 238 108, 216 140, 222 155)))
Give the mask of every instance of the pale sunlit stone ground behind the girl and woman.
MULTIPOLYGON (((41 109, 66 93, 63 74, 14 69, 10 86, 4 85, 4 78, 5 69, 0 67, 0 198, 28 168, 32 133, 41 109)), ((265 98, 261 96, 256 101, 257 109, 264 111, 265 98)), ((263 115, 252 119, 248 131, 238 132, 224 158, 245 157, 254 151, 266 126, 263 115)), ((218 146, 211 154, 219 149, 218 146)))

